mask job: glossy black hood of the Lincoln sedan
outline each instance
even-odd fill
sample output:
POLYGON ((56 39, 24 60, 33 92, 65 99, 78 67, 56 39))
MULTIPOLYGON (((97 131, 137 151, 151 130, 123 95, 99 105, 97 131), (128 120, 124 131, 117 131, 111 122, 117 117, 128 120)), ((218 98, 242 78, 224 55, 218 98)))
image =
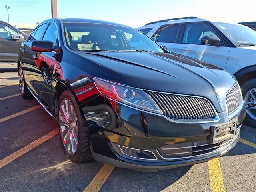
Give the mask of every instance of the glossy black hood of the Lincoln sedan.
MULTIPOLYGON (((212 64, 173 53, 80 52, 82 56, 115 71, 128 86, 196 95, 208 98, 218 111, 216 92, 225 103, 225 93, 236 80, 212 64)), ((111 79, 109 79, 111 80, 111 79)))

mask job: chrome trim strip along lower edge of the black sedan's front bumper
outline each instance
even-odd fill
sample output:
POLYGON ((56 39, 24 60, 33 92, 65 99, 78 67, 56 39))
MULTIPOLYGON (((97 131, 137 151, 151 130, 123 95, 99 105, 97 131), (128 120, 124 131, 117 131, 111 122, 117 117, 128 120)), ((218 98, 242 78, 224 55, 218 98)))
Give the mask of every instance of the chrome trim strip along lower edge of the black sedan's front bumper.
POLYGON ((194 156, 188 156, 188 157, 180 157, 180 158, 164 158, 164 157, 158 152, 158 150, 156 150, 156 151, 157 151, 158 155, 159 155, 162 159, 164 159, 164 160, 182 160, 182 159, 200 158, 200 157, 203 157, 203 156, 208 156, 208 155, 210 155, 210 154, 217 153, 218 151, 222 150, 223 148, 229 147, 229 146, 233 143, 232 141, 234 141, 234 140, 236 140, 236 139, 238 138, 238 135, 239 135, 239 132, 237 132, 236 136, 235 136, 233 139, 230 139, 230 141, 226 142, 226 143, 225 143, 223 146, 221 146, 220 148, 218 148, 218 149, 216 149, 216 150, 213 150, 213 151, 211 151, 211 152, 209 152, 209 153, 204 153, 204 154, 200 154, 200 155, 194 155, 194 156))

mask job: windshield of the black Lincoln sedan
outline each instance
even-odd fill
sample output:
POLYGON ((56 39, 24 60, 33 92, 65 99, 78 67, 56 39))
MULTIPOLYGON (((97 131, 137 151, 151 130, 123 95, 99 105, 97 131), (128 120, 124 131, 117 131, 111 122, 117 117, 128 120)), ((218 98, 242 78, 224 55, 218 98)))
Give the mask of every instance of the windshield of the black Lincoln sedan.
POLYGON ((164 52, 142 32, 124 26, 95 23, 63 23, 66 45, 76 51, 164 52))

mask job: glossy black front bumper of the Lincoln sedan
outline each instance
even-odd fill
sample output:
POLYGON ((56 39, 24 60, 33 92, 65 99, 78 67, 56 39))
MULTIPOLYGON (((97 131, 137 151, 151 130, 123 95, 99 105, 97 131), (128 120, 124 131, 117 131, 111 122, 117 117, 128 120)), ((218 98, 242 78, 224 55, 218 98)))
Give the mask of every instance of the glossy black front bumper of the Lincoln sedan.
POLYGON ((116 104, 112 108, 116 119, 112 118, 111 126, 104 128, 99 124, 98 126, 89 124, 92 156, 96 161, 104 164, 140 171, 157 171, 187 166, 206 162, 225 154, 238 142, 240 128, 245 117, 243 108, 231 119, 227 118, 226 112, 222 112, 218 114, 219 122, 179 124, 170 122, 161 116, 145 113, 147 126, 142 126, 140 111, 120 104, 116 104), (232 138, 212 145, 210 143, 212 142, 211 127, 221 127, 226 124, 236 125, 235 134, 232 138), (204 148, 202 152, 198 152, 198 150, 194 152, 193 144, 195 145, 195 143, 198 146, 210 145, 212 147, 204 148), (216 147, 216 145, 218 146, 216 147), (118 146, 148 151, 153 153, 156 158, 138 158, 127 155, 118 146), (161 150, 164 146, 175 149, 174 155, 162 154, 161 150), (180 155, 180 152, 184 155, 180 155))

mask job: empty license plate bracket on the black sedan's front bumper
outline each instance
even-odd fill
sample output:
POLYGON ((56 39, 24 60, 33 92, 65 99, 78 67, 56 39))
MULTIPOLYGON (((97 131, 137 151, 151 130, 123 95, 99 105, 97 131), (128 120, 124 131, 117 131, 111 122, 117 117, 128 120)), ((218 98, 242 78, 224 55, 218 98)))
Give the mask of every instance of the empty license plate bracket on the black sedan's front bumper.
POLYGON ((220 144, 225 140, 234 138, 236 134, 236 126, 237 126, 237 122, 232 122, 222 126, 211 126, 210 127, 211 136, 208 142, 212 144, 216 144, 216 143, 220 144))

